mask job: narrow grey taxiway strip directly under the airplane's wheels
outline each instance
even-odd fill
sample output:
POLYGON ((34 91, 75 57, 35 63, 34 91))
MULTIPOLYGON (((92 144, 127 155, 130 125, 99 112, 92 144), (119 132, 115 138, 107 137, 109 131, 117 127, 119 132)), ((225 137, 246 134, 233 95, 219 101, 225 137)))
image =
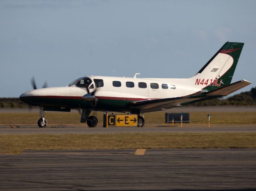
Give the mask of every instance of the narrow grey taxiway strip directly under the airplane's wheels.
MULTIPOLYGON (((15 126, 14 126, 15 127, 15 126)), ((148 127, 111 127, 98 126, 88 128, 84 126, 52 126, 51 128, 38 128, 35 125, 24 125, 19 128, 0 126, 0 134, 116 134, 116 133, 252 133, 256 132, 256 126, 220 126, 220 127, 170 127, 170 126, 148 126, 148 127)))

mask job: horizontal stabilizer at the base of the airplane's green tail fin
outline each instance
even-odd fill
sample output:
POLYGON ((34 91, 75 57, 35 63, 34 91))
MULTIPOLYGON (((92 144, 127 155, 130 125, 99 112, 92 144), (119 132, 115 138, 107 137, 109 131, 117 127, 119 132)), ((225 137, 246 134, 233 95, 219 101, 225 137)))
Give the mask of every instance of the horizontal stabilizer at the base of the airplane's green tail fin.
POLYGON ((207 96, 226 96, 250 84, 251 83, 246 80, 240 80, 238 82, 214 89, 205 94, 207 96))

